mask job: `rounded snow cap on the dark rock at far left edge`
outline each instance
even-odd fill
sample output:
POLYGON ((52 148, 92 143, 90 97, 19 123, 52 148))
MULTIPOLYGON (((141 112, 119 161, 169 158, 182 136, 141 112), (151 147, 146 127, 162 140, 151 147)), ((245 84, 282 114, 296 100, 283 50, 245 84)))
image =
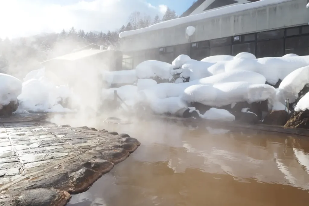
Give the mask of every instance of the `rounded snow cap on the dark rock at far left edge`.
POLYGON ((17 103, 17 97, 22 91, 22 82, 8 74, 0 73, 0 109, 10 102, 17 103))

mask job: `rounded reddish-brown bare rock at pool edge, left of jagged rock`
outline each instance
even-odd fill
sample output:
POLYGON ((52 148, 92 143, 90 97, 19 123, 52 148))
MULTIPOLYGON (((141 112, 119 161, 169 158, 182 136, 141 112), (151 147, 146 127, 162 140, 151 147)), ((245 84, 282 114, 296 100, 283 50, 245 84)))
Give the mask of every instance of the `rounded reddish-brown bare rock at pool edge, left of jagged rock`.
POLYGON ((269 125, 285 125, 290 115, 285 110, 269 111, 264 118, 263 123, 269 125))

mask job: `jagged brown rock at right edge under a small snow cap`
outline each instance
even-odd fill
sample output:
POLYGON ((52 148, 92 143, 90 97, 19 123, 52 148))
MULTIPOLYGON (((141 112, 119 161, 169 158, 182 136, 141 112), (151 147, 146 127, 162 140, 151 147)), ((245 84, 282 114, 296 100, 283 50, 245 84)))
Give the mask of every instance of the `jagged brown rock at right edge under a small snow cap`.
POLYGON ((309 110, 294 112, 284 126, 309 129, 309 110))

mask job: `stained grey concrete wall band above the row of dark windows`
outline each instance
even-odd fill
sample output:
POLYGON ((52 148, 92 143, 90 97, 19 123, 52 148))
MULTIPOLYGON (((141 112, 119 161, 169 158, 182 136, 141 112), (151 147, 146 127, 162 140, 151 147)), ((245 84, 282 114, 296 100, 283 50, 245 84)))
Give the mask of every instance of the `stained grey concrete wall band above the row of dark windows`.
POLYGON ((305 25, 309 22, 308 0, 291 0, 274 5, 222 15, 176 27, 145 32, 121 39, 123 52, 142 51, 151 48, 186 44, 245 33, 305 25), (189 40, 185 37, 188 26, 196 27, 189 40))

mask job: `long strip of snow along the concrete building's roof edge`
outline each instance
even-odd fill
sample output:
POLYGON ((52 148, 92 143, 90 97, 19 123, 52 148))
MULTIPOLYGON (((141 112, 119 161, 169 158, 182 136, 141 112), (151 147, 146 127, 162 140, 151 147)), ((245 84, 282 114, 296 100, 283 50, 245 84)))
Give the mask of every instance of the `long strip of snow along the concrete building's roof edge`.
POLYGON ((251 3, 246 3, 246 4, 239 4, 239 5, 234 5, 234 6, 227 6, 211 11, 207 11, 201 14, 196 14, 196 15, 190 15, 178 19, 171 19, 168 21, 160 22, 154 25, 151 25, 149 27, 137 29, 137 30, 132 30, 132 31, 125 31, 121 32, 119 34, 120 38, 124 38, 127 36, 132 36, 144 32, 151 32, 159 29, 164 29, 164 28, 169 28, 169 27, 175 27, 180 24, 184 23, 190 23, 194 21, 199 21, 207 18, 212 18, 212 17, 217 17, 221 15, 226 15, 226 14, 231 14, 231 13, 236 13, 244 10, 249 10, 249 9, 255 9, 263 6, 268 6, 272 4, 278 4, 282 2, 288 2, 288 1, 293 1, 293 0, 261 0, 257 2, 251 2, 251 3))

